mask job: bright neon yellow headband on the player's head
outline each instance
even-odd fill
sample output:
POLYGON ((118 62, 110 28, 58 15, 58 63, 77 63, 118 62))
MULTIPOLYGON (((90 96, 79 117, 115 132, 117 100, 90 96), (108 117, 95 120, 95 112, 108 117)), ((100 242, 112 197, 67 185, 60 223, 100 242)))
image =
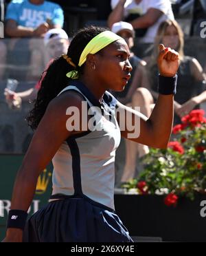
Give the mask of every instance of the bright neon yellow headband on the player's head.
MULTIPOLYGON (((110 43, 113 43, 119 39, 122 39, 122 37, 118 36, 117 34, 114 34, 111 31, 104 31, 98 34, 93 39, 91 39, 91 41, 84 48, 80 56, 80 61, 78 63, 78 66, 81 67, 87 61, 88 54, 95 54, 100 50, 102 50, 107 45, 109 45, 110 43)), ((73 70, 67 73, 67 77, 71 79, 78 79, 78 71, 73 70)))

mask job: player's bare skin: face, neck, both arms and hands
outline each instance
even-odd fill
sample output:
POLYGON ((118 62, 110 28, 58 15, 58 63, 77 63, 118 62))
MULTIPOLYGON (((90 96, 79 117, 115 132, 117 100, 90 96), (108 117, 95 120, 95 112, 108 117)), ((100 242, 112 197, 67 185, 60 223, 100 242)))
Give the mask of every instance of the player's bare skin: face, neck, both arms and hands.
MULTIPOLYGON (((117 91, 124 89, 132 70, 128 61, 129 54, 128 45, 124 39, 111 43, 100 54, 89 54, 80 81, 100 101, 106 89, 117 91), (93 69, 94 65, 95 69, 93 69)), ((158 63, 160 74, 174 76, 179 67, 179 56, 176 52, 165 50, 161 45, 158 63)), ((68 107, 74 106, 78 107, 81 114, 82 100, 83 98, 79 94, 65 92, 49 103, 18 171, 11 209, 27 211, 36 190, 38 175, 52 160, 62 142, 69 136, 81 132, 66 129, 66 122, 70 116, 66 116, 65 113, 68 107)), ((127 112, 132 111, 121 104, 119 107, 127 112)), ((172 113, 173 95, 159 96, 157 105, 148 120, 139 112, 133 111, 133 118, 140 118, 141 126, 140 135, 134 140, 152 147, 165 148, 171 134, 172 113), (161 134, 160 138, 159 134, 161 134)), ((117 118, 117 120, 119 119, 117 118)), ((122 131, 122 137, 127 138, 128 133, 130 131, 122 131)), ((20 229, 8 228, 3 242, 21 242, 22 235, 23 231, 20 229)))

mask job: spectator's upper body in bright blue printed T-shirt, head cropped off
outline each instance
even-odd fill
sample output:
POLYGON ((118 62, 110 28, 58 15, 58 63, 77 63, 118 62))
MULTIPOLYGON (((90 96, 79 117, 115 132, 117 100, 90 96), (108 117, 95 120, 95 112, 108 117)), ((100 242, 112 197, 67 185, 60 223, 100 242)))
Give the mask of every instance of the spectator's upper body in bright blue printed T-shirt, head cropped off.
POLYGON ((62 28, 64 14, 56 3, 44 0, 13 0, 5 16, 10 37, 43 37, 52 28, 62 28))

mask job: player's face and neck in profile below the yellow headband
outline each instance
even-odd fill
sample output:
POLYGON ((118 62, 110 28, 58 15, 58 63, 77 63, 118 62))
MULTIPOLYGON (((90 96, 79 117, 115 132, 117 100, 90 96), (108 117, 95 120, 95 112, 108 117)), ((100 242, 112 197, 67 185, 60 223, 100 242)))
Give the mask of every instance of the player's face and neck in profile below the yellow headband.
POLYGON ((89 67, 86 67, 84 76, 80 78, 80 81, 89 87, 96 98, 102 98, 108 89, 122 91, 133 69, 128 61, 129 54, 128 46, 125 45, 124 40, 119 40, 105 47, 100 51, 100 54, 89 54, 87 56, 89 67), (95 70, 91 69, 93 65, 95 65, 95 70), (91 70, 93 76, 91 76, 91 70), (115 74, 115 76, 111 77, 111 74, 115 74))

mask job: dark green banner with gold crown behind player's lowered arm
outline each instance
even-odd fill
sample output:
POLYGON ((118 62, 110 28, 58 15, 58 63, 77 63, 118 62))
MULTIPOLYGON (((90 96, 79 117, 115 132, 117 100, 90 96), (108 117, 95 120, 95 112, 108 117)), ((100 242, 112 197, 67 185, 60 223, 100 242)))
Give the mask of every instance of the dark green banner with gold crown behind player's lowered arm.
MULTIPOLYGON (((5 235, 14 180, 23 157, 23 155, 0 155, 0 241, 5 235)), ((38 177, 36 193, 29 210, 30 215, 47 204, 49 196, 52 194, 52 170, 51 163, 38 177)))

